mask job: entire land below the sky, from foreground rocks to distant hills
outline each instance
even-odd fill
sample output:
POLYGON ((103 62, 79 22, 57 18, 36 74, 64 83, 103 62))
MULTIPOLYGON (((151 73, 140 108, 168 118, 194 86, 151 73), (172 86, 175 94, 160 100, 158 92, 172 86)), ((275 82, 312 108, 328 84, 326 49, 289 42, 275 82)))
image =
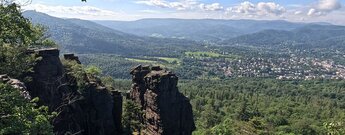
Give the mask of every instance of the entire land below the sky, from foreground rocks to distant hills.
POLYGON ((345 134, 345 26, 12 6, 0 6, 0 134, 345 134))

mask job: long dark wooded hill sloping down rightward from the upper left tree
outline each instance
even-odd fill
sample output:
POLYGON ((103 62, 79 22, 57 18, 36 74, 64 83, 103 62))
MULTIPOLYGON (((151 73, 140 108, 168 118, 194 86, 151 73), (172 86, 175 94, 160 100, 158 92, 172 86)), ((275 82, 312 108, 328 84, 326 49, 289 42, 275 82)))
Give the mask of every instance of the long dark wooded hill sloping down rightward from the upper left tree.
POLYGON ((174 55, 196 45, 195 42, 180 39, 139 37, 91 21, 61 19, 36 11, 25 11, 23 15, 33 23, 47 27, 48 34, 64 52, 174 55))

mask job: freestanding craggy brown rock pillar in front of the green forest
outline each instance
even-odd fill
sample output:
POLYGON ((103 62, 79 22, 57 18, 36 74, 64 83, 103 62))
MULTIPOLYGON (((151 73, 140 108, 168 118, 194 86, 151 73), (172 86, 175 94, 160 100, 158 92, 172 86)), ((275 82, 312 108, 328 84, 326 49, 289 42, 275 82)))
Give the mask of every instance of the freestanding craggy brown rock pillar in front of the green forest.
POLYGON ((178 91, 178 77, 160 67, 132 69, 130 98, 144 112, 148 135, 190 135, 195 130, 189 99, 178 91))

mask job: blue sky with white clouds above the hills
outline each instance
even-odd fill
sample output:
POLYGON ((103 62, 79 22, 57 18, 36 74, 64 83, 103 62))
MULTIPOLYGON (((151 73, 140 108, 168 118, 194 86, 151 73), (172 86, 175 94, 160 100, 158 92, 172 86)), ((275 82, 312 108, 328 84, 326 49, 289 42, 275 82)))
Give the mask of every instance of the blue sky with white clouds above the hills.
POLYGON ((345 0, 32 0, 25 10, 87 20, 262 19, 345 25, 345 0))

